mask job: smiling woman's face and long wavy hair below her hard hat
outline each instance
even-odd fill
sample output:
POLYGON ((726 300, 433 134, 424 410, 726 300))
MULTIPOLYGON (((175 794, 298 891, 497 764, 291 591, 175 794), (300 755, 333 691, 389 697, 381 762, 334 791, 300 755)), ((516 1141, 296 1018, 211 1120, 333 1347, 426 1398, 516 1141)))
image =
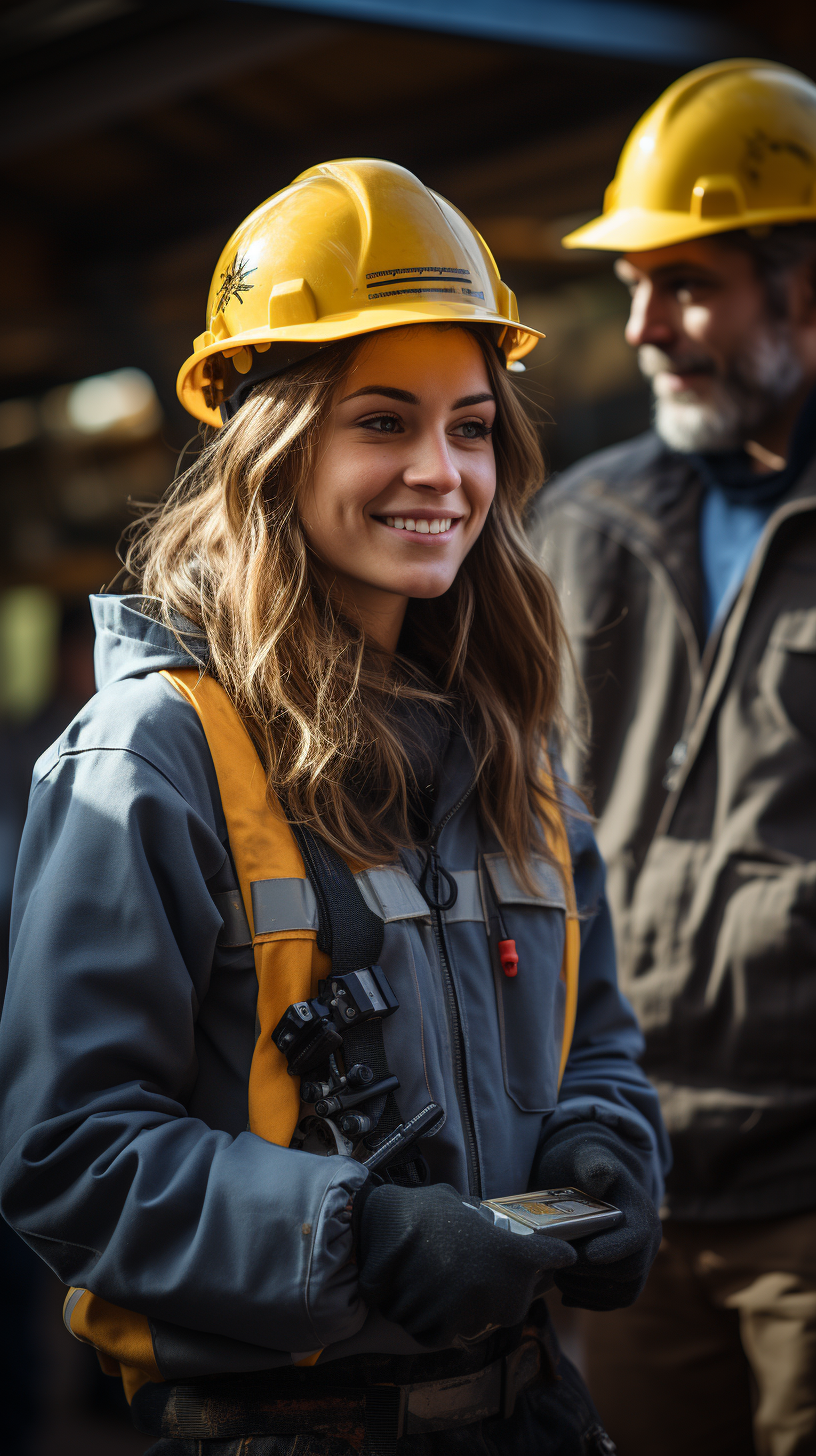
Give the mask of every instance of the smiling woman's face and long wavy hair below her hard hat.
POLYGON ((564 649, 523 531, 542 473, 490 336, 405 325, 258 383, 134 542, 131 574, 205 633, 274 792, 358 863, 414 839, 405 713, 462 699, 482 814, 527 881, 564 649))

